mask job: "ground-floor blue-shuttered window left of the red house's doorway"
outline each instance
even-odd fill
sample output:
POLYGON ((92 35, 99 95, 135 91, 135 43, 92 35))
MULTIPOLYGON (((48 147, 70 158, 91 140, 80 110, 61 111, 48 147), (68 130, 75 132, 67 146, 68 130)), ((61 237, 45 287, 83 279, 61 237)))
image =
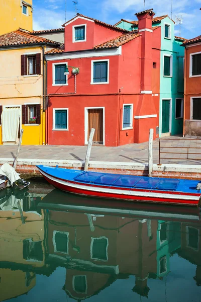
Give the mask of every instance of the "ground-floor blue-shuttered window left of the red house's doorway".
POLYGON ((68 130, 68 108, 53 109, 53 130, 68 130))

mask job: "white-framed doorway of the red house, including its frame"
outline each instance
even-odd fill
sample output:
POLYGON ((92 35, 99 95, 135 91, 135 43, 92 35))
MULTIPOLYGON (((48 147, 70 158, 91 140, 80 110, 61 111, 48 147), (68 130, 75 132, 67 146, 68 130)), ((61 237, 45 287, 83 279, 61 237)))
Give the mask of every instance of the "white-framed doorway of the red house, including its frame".
POLYGON ((93 144, 105 144, 104 108, 85 108, 85 110, 85 144, 88 142, 91 128, 95 129, 93 144))

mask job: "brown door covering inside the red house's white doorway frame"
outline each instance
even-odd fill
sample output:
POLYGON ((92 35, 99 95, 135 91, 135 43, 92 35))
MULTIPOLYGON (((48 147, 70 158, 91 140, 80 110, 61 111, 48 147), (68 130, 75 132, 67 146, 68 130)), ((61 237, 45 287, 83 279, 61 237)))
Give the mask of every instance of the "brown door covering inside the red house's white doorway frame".
POLYGON ((91 128, 95 129, 93 143, 104 143, 104 110, 88 109, 88 138, 91 128))

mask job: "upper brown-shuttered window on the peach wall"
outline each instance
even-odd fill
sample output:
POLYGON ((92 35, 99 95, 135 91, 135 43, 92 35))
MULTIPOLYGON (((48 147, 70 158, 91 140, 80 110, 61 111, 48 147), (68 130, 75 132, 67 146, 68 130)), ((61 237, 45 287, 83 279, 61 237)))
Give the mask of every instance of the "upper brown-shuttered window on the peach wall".
POLYGON ((21 75, 41 74, 41 54, 21 55, 21 75))

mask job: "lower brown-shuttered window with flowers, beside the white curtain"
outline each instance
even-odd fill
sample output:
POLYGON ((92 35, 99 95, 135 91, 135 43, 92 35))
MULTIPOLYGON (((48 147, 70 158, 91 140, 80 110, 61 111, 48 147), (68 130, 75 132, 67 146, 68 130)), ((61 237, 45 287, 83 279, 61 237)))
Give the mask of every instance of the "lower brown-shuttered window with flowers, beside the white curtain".
POLYGON ((40 124, 41 105, 25 104, 22 105, 22 124, 40 124))

